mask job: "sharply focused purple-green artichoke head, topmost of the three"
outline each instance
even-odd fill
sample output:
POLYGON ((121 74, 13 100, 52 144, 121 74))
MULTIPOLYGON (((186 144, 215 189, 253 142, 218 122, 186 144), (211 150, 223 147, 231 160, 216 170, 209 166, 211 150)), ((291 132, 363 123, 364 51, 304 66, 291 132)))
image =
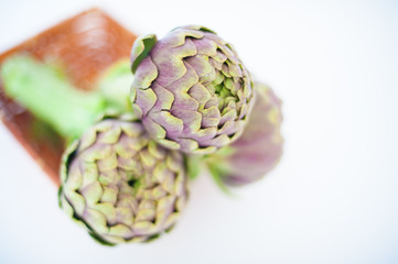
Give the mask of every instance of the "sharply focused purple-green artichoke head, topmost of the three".
POLYGON ((230 44, 204 26, 138 38, 131 52, 133 109, 149 135, 187 154, 234 142, 250 112, 251 78, 230 44))

